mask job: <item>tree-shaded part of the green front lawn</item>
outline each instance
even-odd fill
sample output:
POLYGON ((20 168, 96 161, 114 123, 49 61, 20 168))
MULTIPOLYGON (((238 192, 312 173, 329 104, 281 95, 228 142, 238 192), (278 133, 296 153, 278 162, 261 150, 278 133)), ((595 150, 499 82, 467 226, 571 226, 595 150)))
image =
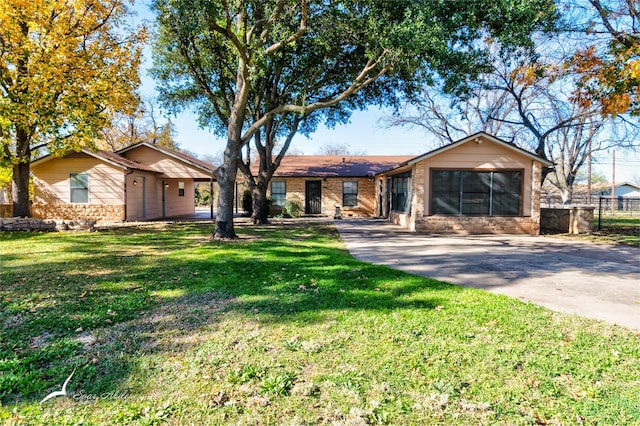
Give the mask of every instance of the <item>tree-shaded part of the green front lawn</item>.
POLYGON ((211 241, 210 225, 193 223, 8 235, 3 404, 43 398, 74 368, 74 389, 122 391, 137 355, 188 348, 194 330, 226 312, 319 322, 334 311, 432 310, 463 291, 353 259, 332 225, 239 231, 232 242, 211 241))

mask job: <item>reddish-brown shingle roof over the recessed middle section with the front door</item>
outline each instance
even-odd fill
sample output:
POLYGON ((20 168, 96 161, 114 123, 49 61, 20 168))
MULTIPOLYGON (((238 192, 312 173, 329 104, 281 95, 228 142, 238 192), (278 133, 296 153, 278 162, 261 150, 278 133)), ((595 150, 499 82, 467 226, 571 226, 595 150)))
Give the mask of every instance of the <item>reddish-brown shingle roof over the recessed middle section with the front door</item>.
POLYGON ((274 177, 366 177, 412 159, 412 155, 287 155, 274 177))

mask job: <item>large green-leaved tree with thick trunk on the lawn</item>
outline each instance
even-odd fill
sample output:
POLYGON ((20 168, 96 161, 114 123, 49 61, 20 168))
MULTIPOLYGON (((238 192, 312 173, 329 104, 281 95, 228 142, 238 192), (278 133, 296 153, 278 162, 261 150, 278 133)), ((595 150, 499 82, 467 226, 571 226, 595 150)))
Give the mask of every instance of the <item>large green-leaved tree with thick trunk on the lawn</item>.
MULTIPOLYGON (((165 102, 195 107, 227 138, 215 237, 234 238, 243 146, 269 123, 344 119, 393 103, 438 74, 451 90, 486 65, 478 40, 529 42, 553 21, 551 0, 156 0, 154 75, 165 102), (279 73, 276 75, 274 73, 279 73), (265 81, 270 97, 255 108, 265 81)), ((286 132, 285 132, 286 133, 286 132)))

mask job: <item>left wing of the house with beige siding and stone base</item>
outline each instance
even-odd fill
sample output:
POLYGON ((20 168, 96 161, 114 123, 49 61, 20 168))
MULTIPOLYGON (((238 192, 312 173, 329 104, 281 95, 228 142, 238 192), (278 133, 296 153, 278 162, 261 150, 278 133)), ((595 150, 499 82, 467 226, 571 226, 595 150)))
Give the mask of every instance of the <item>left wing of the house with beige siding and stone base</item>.
POLYGON ((146 142, 117 153, 45 156, 31 165, 32 216, 135 221, 191 215, 195 182, 213 185, 215 167, 146 142))

